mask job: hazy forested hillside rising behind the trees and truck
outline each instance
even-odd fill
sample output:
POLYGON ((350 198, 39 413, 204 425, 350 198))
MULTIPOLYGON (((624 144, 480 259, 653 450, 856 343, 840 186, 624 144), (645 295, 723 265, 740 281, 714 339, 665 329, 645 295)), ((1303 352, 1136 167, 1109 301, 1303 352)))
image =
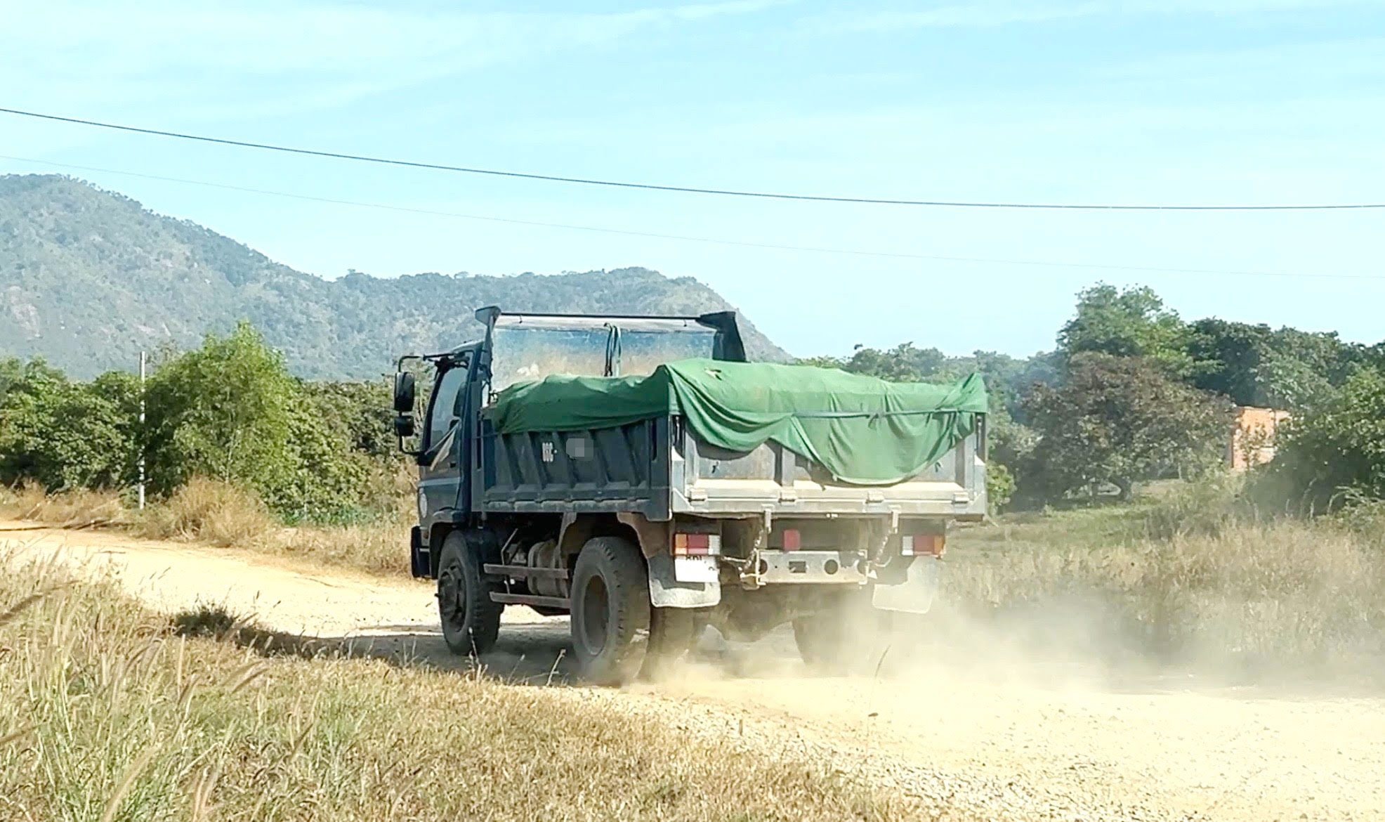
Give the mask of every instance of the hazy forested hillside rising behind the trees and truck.
MULTIPOLYGON (((691 277, 647 269, 324 280, 188 220, 57 175, 0 176, 0 355, 73 376, 129 369, 138 351, 187 348, 238 319, 302 377, 377 376, 407 351, 479 327, 472 309, 697 313, 731 308, 691 277)), ((742 320, 751 355, 787 356, 742 320)))

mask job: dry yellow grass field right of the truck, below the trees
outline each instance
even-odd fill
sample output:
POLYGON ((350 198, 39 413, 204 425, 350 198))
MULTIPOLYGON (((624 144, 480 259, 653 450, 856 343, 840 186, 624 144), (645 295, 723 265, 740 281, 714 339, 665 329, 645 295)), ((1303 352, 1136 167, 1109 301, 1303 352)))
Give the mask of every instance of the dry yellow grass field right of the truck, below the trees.
POLYGON ((956 610, 1035 642, 1242 670, 1385 660, 1385 535, 1260 520, 1231 492, 1012 517, 956 534, 949 560, 956 610))

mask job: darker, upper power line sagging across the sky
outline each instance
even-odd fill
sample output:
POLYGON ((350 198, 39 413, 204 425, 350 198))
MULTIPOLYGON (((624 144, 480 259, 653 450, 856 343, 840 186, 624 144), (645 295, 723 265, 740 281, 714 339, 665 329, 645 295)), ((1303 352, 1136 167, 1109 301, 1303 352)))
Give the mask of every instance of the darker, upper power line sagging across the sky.
POLYGON ((91 119, 72 116, 58 116, 55 114, 40 114, 36 111, 21 111, 18 108, 0 108, 0 114, 14 114, 18 116, 32 116, 37 119, 94 126, 100 129, 115 129, 118 132, 134 132, 138 134, 154 134, 159 137, 176 137, 179 140, 197 140, 199 143, 216 143, 219 146, 237 146, 241 148, 263 148, 266 151, 281 151, 285 154, 306 154, 310 157, 328 157, 334 159, 350 159, 356 162, 374 162, 381 165, 399 165, 407 168, 432 169, 443 172, 460 172, 467 175, 489 175, 494 177, 519 177, 525 180, 546 180, 551 183, 576 183, 582 186, 607 186, 614 189, 644 189, 651 191, 677 191, 683 194, 716 194, 723 197, 753 197, 762 200, 807 200, 816 202, 856 202, 870 205, 925 205, 938 208, 1030 208, 1030 209, 1066 209, 1066 211, 1330 211, 1330 209, 1361 209, 1385 208, 1385 202, 1352 202, 1352 204, 1306 204, 1306 205, 1109 205, 1109 204, 1062 204, 1062 202, 961 202, 945 200, 888 200, 877 197, 828 197, 816 194, 777 194, 769 191, 740 191, 733 189, 697 189, 690 186, 662 186, 654 183, 626 183, 618 180, 596 180, 589 177, 564 177, 557 175, 536 175, 526 172, 506 172, 483 168, 467 168, 458 165, 442 165, 432 162, 416 162, 409 159, 388 159, 384 157, 367 157, 361 154, 342 154, 338 151, 321 151, 314 148, 292 148, 288 146, 273 146, 269 143, 249 143, 245 140, 229 140, 224 137, 206 137, 202 134, 187 134, 183 132, 165 132, 159 129, 145 129, 138 126, 122 126, 91 119))

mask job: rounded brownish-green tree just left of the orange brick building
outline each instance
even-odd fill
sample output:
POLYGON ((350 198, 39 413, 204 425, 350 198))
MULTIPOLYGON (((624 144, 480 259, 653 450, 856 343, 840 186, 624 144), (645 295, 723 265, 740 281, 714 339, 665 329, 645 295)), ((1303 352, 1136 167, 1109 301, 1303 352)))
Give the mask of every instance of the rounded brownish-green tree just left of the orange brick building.
POLYGON ((1086 352, 1061 385, 1036 384, 1025 398, 1040 439, 1025 485, 1058 498, 1112 484, 1197 474, 1222 456, 1230 419, 1224 401, 1174 380, 1162 363, 1086 352))

